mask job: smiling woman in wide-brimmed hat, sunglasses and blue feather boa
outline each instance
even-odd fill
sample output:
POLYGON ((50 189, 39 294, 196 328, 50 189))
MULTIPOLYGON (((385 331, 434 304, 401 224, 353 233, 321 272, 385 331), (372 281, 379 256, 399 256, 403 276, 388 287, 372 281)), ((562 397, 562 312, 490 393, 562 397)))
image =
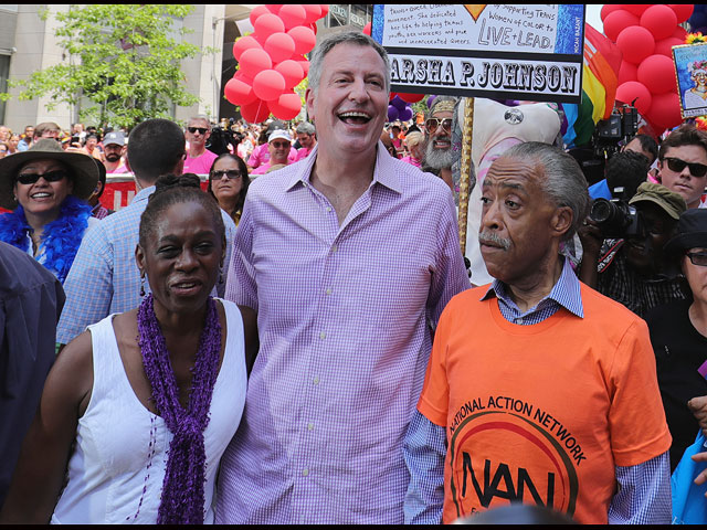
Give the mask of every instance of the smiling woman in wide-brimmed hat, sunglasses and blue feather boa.
POLYGON ((34 256, 63 283, 91 219, 84 201, 98 181, 86 155, 51 138, 0 160, 0 241, 34 256))

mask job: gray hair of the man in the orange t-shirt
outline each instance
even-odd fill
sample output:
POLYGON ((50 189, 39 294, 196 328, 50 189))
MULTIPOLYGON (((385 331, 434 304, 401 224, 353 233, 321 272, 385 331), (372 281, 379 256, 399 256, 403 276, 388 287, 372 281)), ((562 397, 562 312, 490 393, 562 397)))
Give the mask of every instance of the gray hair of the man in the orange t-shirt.
POLYGON ((518 144, 502 157, 535 162, 545 173, 542 191, 548 199, 558 208, 569 206, 572 210, 572 226, 562 241, 572 239, 587 219, 590 206, 587 179, 577 160, 562 149, 539 141, 518 144))

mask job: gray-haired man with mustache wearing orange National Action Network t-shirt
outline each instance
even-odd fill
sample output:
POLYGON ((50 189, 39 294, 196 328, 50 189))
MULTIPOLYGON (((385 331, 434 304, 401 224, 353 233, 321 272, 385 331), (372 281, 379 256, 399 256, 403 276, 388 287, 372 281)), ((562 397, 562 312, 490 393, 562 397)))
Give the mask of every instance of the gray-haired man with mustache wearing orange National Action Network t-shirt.
POLYGON ((482 202, 497 279, 440 319, 404 443, 405 522, 520 501, 582 523, 669 523, 671 435, 647 327, 559 254, 587 216, 580 168, 518 145, 490 167, 482 202))

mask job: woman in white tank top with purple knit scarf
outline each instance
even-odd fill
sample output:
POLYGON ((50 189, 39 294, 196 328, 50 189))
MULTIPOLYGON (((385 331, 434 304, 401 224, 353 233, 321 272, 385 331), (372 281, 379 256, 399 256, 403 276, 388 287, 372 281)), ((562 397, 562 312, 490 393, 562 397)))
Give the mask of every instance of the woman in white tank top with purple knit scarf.
POLYGON ((136 262, 151 295, 60 353, 2 522, 213 522, 221 455, 241 420, 255 314, 210 294, 225 254, 219 206, 160 179, 136 262), (249 348, 246 348, 246 344, 249 348))

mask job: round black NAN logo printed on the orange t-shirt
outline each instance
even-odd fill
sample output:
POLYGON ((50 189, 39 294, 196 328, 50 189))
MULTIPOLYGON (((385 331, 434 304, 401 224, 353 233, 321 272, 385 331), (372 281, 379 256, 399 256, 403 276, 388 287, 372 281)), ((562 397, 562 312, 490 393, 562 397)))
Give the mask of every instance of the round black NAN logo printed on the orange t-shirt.
POLYGON ((456 517, 508 502, 572 517, 581 445, 558 420, 507 396, 465 403, 450 426, 450 490, 456 517))

